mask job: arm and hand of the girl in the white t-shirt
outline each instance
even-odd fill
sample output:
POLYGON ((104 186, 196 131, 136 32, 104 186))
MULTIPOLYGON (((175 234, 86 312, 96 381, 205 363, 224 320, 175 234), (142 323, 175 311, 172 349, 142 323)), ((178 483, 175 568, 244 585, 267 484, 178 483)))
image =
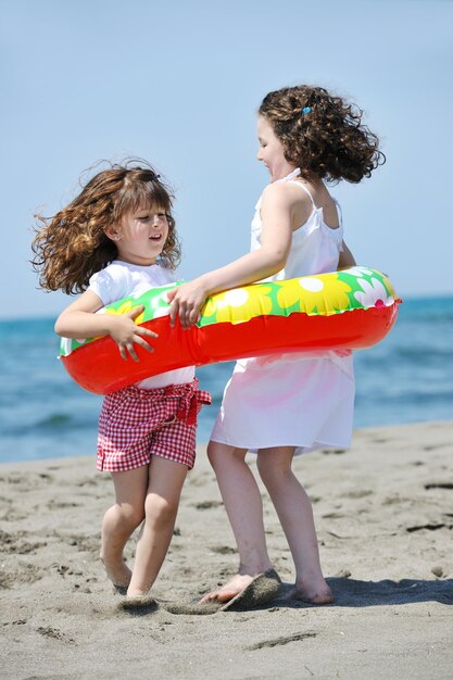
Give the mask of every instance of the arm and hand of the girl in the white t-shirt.
POLYGON ((122 357, 127 360, 128 352, 135 362, 138 362, 138 357, 134 343, 149 352, 154 351, 144 338, 156 338, 158 335, 134 323, 143 311, 142 305, 121 315, 95 314, 103 306, 102 300, 96 293, 91 290, 85 291, 60 314, 55 323, 55 332, 64 338, 111 336, 118 345, 122 357))

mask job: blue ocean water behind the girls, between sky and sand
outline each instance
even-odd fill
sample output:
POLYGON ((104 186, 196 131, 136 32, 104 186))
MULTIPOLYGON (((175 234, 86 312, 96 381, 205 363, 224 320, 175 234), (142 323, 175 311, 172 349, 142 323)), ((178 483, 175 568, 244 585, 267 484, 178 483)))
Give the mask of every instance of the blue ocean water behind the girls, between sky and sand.
MULTIPOLYGON (((405 300, 390 335, 355 352, 355 427, 453 419, 452 338, 453 298, 405 300)), ((58 353, 53 319, 0 322, 0 462, 95 456, 102 398, 75 385, 58 353)), ((200 415, 201 442, 232 365, 198 369, 213 395, 200 415)))

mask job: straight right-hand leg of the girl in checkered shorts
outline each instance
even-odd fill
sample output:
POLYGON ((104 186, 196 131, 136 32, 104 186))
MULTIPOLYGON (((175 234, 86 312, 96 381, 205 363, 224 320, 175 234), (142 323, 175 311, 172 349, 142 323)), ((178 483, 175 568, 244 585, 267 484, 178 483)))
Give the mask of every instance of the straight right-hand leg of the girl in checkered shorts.
POLYGON ((130 597, 147 593, 158 577, 172 541, 186 475, 187 466, 183 463, 152 456, 144 500, 144 522, 127 590, 130 597))

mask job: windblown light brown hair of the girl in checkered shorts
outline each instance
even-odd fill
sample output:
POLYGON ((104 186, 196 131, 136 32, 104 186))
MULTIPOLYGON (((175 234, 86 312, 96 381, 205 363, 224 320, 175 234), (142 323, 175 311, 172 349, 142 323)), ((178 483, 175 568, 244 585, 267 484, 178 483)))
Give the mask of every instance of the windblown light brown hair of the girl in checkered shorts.
POLYGON ((81 192, 54 217, 35 215, 39 226, 32 243, 32 265, 45 290, 68 294, 86 290, 90 276, 117 256, 116 245, 105 231, 118 225, 126 213, 143 206, 165 211, 168 237, 161 261, 171 269, 179 263, 171 189, 143 161, 109 165, 81 185, 81 192))

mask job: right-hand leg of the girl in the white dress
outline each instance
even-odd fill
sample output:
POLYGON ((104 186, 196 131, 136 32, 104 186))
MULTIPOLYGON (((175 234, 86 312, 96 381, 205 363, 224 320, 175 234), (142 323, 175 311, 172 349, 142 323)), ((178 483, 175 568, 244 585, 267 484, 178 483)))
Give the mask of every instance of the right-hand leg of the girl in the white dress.
POLYGON ((320 568, 312 504, 291 469, 293 453, 292 446, 262 449, 257 467, 295 565, 295 584, 289 596, 326 604, 334 597, 320 568))

